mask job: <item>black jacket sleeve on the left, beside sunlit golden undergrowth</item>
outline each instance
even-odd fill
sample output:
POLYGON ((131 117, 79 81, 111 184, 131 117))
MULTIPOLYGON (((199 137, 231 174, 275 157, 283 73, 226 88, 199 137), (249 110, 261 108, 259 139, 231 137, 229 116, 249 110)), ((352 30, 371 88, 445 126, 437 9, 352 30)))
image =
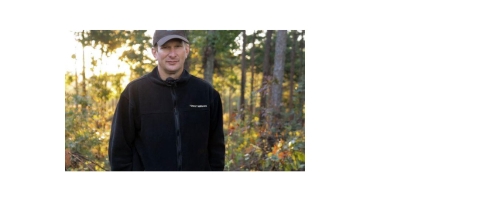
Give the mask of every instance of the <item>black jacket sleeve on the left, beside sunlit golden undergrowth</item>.
POLYGON ((108 159, 112 171, 133 170, 134 139, 134 109, 129 99, 122 94, 113 116, 108 147, 108 159))

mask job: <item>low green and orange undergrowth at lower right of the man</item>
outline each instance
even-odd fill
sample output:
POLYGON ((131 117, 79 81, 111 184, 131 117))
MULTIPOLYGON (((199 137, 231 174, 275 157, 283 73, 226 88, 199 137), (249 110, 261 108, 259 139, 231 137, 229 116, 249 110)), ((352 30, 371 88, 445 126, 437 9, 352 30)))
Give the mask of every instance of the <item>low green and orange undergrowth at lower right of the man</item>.
POLYGON ((282 121, 274 136, 259 126, 258 120, 242 122, 236 118, 225 133, 225 170, 304 171, 305 127, 301 118, 282 121))

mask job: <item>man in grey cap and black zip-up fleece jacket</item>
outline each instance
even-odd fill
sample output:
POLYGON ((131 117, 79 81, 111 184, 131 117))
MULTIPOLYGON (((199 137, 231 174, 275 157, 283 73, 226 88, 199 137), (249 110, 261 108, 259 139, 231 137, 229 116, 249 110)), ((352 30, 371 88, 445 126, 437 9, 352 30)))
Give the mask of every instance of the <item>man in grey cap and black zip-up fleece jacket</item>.
POLYGON ((220 94, 184 70, 185 31, 156 30, 157 67, 130 82, 112 121, 112 171, 223 170, 225 142, 220 94))

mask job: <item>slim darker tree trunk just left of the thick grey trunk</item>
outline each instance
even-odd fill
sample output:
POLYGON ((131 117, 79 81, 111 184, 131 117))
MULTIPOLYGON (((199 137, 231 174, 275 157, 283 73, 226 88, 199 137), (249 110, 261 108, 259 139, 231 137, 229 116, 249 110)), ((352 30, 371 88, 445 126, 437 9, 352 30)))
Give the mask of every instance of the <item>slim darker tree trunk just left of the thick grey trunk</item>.
MULTIPOLYGON (((265 40, 265 54, 263 56, 263 77, 262 77, 262 85, 261 88, 266 87, 265 85, 267 84, 267 80, 270 76, 270 45, 272 42, 272 30, 267 30, 267 36, 265 40)), ((267 90, 262 91, 260 93, 260 109, 262 111, 260 112, 259 119, 260 119, 260 124, 263 125, 265 121, 265 112, 267 108, 267 93, 268 93, 268 87, 266 87, 267 90)))

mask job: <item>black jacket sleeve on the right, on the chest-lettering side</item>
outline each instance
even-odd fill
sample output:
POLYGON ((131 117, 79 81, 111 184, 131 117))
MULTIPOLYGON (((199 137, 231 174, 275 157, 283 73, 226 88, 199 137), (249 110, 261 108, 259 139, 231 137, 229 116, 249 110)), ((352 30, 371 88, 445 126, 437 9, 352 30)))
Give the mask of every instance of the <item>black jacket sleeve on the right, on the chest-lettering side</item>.
POLYGON ((222 171, 225 167, 222 100, 216 90, 214 90, 213 98, 213 106, 210 113, 208 158, 211 170, 222 171))

